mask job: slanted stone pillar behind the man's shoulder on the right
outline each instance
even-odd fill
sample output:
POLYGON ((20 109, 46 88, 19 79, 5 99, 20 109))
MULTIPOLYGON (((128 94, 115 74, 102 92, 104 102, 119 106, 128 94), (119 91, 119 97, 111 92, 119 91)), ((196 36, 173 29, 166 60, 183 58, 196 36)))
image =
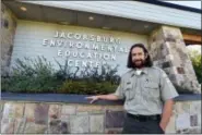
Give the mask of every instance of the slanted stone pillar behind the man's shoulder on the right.
POLYGON ((154 65, 168 74, 178 93, 201 93, 179 28, 161 26, 151 33, 148 45, 154 65))

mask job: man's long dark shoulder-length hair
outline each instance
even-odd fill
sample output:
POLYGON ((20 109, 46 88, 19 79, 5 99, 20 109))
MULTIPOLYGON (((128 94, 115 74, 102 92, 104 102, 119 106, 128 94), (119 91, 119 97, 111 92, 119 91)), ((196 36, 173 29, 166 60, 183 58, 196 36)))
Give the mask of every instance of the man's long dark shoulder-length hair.
POLYGON ((129 68, 129 69, 135 69, 135 65, 134 65, 134 63, 132 62, 132 54, 131 54, 132 49, 135 48, 135 47, 142 48, 143 51, 144 51, 144 56, 147 54, 147 58, 145 59, 145 62, 144 62, 144 66, 151 68, 151 66, 153 65, 153 62, 152 62, 152 60, 151 60, 151 57, 150 57, 150 54, 148 54, 147 49, 144 47, 143 44, 134 44, 134 45, 130 48, 130 52, 129 52, 129 56, 128 56, 128 64, 127 64, 127 68, 129 68))

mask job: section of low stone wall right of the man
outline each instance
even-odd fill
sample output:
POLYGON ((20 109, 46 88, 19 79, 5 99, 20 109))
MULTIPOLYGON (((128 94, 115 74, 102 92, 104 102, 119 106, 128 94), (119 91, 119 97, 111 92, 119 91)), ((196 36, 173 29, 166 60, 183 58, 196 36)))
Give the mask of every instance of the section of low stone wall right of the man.
POLYGON ((167 131, 179 134, 201 133, 201 101, 176 102, 167 131))

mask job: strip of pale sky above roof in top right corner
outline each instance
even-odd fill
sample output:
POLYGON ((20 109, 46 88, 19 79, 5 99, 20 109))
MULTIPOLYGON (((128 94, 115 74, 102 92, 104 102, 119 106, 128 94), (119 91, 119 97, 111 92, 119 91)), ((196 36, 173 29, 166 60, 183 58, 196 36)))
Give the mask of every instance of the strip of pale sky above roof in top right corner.
POLYGON ((200 0, 195 0, 195 1, 165 1, 165 2, 170 2, 170 3, 175 3, 175 4, 180 4, 180 5, 186 5, 186 7, 192 7, 192 8, 197 8, 197 9, 201 9, 201 1, 200 0))

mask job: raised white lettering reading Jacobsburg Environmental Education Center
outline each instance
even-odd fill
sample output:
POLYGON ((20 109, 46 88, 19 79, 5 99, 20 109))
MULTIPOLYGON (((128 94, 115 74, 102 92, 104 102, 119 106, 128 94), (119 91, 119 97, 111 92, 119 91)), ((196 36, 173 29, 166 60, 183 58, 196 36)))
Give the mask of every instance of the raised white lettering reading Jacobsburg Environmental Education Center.
POLYGON ((43 46, 57 48, 56 54, 67 58, 69 66, 98 68, 129 52, 119 37, 71 32, 55 32, 52 36, 54 39, 43 39, 43 46))

